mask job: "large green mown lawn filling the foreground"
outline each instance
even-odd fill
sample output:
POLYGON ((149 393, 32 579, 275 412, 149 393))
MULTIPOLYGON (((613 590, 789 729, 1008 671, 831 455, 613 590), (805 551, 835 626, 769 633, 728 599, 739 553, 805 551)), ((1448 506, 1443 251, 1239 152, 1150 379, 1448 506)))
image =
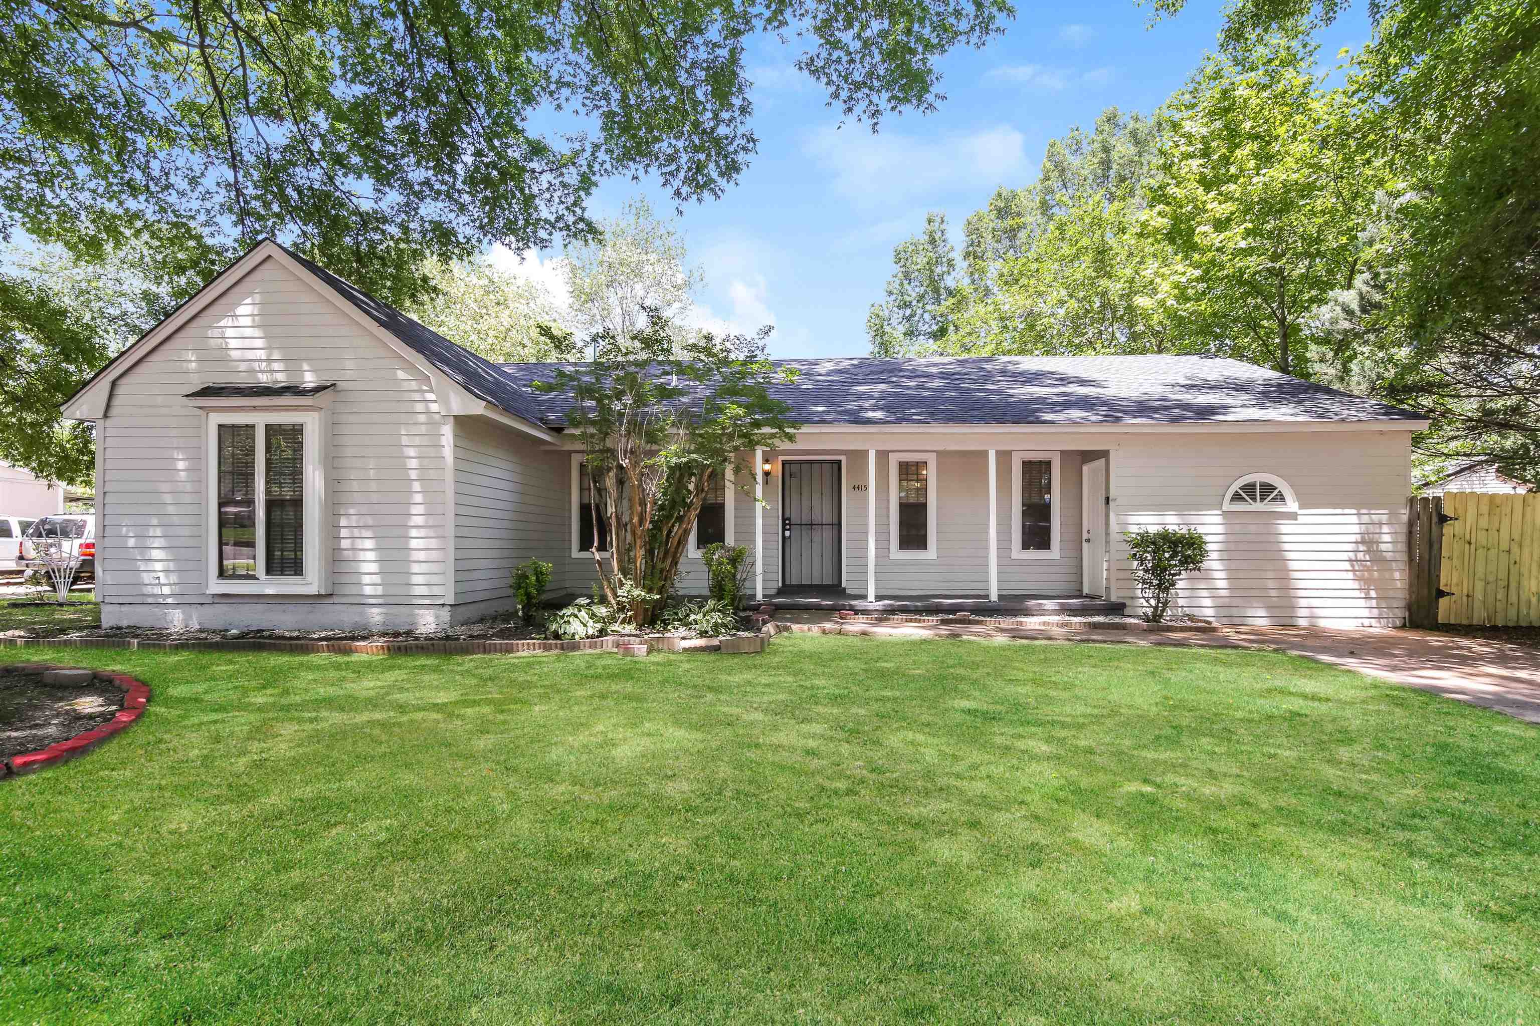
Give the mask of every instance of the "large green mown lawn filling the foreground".
POLYGON ((1278 654, 3 651, 3 1023, 1534 1023, 1540 732, 1278 654))

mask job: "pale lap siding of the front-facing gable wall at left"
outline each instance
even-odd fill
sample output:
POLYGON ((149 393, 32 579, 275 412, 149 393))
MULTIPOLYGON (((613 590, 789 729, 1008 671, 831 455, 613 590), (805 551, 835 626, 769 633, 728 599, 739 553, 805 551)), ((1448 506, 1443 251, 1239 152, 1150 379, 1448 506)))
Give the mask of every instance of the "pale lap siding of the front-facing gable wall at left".
POLYGON ((444 441, 425 375, 268 260, 112 385, 103 448, 102 597, 109 603, 444 601, 444 441), (205 592, 203 415, 214 383, 336 381, 330 509, 333 594, 205 592))

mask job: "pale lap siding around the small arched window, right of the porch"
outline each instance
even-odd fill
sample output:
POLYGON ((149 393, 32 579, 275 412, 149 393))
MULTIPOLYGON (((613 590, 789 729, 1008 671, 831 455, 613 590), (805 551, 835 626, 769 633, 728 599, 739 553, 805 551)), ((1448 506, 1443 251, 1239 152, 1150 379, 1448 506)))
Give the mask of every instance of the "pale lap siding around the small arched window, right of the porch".
MULTIPOLYGON (((1226 623, 1386 625, 1406 617, 1408 432, 1133 437, 1113 458, 1118 528, 1209 541, 1183 609, 1226 623), (1277 474, 1298 514, 1221 512, 1243 474, 1277 474)), ((1118 594, 1137 595, 1116 540, 1118 594)))

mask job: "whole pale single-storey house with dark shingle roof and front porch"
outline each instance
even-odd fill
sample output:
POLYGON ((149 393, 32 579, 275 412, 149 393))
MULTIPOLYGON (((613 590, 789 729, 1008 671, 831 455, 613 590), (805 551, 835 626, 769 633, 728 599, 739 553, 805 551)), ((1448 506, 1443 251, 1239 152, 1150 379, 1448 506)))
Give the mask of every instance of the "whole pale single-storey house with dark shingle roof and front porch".
MULTIPOLYGON (((798 441, 742 454, 753 481, 702 518, 755 554, 759 597, 1133 605, 1120 532, 1190 525, 1197 615, 1404 620, 1414 414, 1206 357, 796 366, 798 441)), ((508 608, 531 557, 587 592, 548 375, 260 243, 65 405, 97 425, 103 623, 442 628, 508 608)))

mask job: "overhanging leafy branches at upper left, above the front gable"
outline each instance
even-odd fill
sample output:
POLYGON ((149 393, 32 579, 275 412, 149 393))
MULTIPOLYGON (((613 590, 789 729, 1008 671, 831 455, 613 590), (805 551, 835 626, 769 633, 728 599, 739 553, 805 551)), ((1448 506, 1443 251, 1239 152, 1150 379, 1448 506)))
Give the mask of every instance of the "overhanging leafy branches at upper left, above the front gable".
MULTIPOLYGON (((434 289, 430 258, 591 237, 605 177, 721 197, 758 146, 755 38, 795 45, 830 106, 875 128, 936 109, 939 58, 1012 15, 1007 0, 0 0, 0 240, 86 261, 132 248, 177 301, 271 235, 407 308, 434 289)), ((79 349, 46 329, 59 295, 0 278, 0 321, 79 349)), ((0 394, 0 420, 48 411, 105 358, 0 394)), ((74 451, 49 475, 85 478, 89 445, 74 451)), ((0 448, 17 455, 34 463, 0 448)))

